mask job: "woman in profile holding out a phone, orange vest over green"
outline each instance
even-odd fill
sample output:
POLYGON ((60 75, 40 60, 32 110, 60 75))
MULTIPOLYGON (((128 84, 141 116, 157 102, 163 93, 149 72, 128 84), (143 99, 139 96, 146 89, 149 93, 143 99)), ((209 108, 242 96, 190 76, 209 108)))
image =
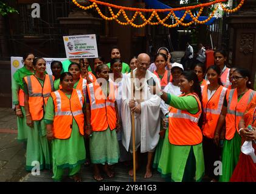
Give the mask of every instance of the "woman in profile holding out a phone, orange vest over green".
POLYGON ((204 175, 202 132, 199 127, 202 124, 202 96, 196 73, 182 72, 179 86, 181 96, 162 90, 153 92, 171 106, 158 170, 171 181, 201 181, 204 175))

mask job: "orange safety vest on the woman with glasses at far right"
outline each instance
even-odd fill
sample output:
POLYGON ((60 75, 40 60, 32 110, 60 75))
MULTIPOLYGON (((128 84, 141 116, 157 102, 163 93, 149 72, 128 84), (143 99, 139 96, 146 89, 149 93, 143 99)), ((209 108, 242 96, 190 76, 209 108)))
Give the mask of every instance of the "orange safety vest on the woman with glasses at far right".
POLYGON ((238 124, 243 118, 247 104, 255 96, 255 91, 249 89, 238 102, 237 89, 227 90, 227 115, 226 115, 226 139, 234 138, 235 130, 238 132, 238 124))

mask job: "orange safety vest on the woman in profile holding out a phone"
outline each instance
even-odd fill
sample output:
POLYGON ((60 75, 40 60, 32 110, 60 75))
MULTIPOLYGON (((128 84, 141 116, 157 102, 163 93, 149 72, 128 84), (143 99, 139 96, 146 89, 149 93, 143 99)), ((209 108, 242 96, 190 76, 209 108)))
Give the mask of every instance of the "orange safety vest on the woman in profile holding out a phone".
POLYGON ((202 113, 201 102, 195 93, 181 96, 194 96, 198 102, 199 111, 193 115, 187 110, 169 108, 169 142, 177 146, 200 144, 202 142, 202 132, 198 126, 198 121, 202 113))

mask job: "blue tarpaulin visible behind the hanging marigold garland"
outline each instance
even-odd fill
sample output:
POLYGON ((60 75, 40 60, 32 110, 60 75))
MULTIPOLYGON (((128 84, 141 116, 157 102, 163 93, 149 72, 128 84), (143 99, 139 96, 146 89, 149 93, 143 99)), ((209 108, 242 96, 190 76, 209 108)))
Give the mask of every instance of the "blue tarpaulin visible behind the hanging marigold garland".
MULTIPOLYGON (((164 9, 164 8, 171 8, 168 5, 163 4, 160 1, 157 0, 145 0, 145 3, 147 4, 148 8, 154 8, 154 9, 164 9)), ((182 18, 182 16, 184 15, 185 11, 175 11, 175 15, 178 18, 182 18)), ((165 12, 166 14, 168 14, 169 12, 165 12)), ((199 16, 198 20, 199 21, 204 21, 206 20, 208 17, 206 16, 199 16)), ((212 25, 212 23, 215 21, 215 17, 212 17, 212 19, 210 19, 209 22, 206 22, 206 25, 212 25)), ((192 21, 192 18, 190 17, 189 14, 187 14, 185 16, 185 20, 187 21, 192 21)))

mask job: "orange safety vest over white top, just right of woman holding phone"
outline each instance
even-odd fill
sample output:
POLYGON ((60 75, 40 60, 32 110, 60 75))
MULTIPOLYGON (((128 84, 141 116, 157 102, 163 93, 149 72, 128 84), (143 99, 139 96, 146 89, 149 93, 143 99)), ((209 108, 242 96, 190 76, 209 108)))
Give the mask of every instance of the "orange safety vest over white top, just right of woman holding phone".
POLYGON ((218 119, 221 114, 223 102, 226 96, 227 89, 220 85, 212 98, 208 100, 207 90, 208 85, 202 86, 202 110, 204 112, 204 124, 202 125, 202 134, 207 138, 214 137, 215 129, 218 124, 218 119))

